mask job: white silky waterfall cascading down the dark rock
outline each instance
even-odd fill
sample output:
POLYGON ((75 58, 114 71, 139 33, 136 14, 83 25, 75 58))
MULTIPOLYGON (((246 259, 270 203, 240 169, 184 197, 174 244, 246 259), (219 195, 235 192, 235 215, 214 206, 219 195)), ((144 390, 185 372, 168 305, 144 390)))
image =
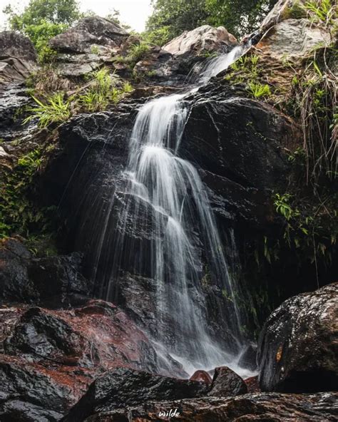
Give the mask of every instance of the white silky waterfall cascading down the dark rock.
MULTIPOLYGON (((229 54, 213 59, 201 74, 198 85, 225 70, 242 52, 242 47, 236 47, 229 54)), ((170 321, 170 326, 154 339, 158 348, 165 347, 188 372, 224 364, 235 366, 240 372, 233 353, 240 350, 242 341, 240 312, 222 242, 198 171, 178 155, 188 115, 184 98, 193 91, 157 98, 138 112, 124 173, 124 195, 128 199, 119 216, 113 276, 106 296, 112 299, 115 294, 121 251, 126 249, 127 221, 132 221, 131 230, 138 237, 142 220, 155 233, 150 251, 145 253, 150 254, 150 276, 156 284, 156 318, 161 326, 170 321), (203 277, 207 278, 208 273, 228 298, 224 324, 235 345, 227 350, 212 338, 208 327, 203 294, 203 277)), ((129 259, 138 273, 143 265, 142 255, 129 259)))

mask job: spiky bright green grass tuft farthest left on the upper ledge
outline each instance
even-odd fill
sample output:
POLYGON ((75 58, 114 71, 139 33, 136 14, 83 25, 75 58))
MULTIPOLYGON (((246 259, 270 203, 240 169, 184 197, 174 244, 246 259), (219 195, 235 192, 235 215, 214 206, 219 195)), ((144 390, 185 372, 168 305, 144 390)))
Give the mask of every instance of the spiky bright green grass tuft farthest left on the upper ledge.
POLYGON ((32 98, 36 106, 27 108, 31 114, 24 120, 24 124, 37 119, 39 128, 46 128, 51 123, 62 123, 71 116, 71 99, 65 100, 61 92, 44 98, 45 101, 40 101, 36 97, 32 98))

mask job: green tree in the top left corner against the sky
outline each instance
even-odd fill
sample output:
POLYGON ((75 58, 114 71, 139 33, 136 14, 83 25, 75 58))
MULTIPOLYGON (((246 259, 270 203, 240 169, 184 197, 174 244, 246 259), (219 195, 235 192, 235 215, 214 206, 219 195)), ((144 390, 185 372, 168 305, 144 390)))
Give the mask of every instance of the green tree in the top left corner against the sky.
POLYGON ((11 29, 20 31, 31 38, 42 62, 53 56, 48 41, 81 17, 76 0, 30 0, 20 14, 10 5, 4 9, 11 29))

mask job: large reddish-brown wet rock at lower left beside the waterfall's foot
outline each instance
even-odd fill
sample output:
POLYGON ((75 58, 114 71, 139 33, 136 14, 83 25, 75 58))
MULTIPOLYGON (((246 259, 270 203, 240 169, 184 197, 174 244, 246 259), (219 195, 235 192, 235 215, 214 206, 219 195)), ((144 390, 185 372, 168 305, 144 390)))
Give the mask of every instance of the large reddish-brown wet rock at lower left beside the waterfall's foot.
POLYGON ((156 371, 158 359, 147 336, 106 302, 71 311, 1 307, 0 419, 58 421, 103 371, 156 371))

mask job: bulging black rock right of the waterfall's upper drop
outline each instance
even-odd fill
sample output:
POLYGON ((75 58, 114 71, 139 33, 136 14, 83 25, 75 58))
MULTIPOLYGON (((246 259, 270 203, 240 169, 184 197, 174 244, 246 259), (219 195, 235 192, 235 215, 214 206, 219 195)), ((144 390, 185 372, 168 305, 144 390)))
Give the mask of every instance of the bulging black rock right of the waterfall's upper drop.
POLYGON ((292 122, 270 105, 218 89, 193 103, 182 140, 187 158, 245 187, 284 184, 283 147, 294 133, 292 122))

